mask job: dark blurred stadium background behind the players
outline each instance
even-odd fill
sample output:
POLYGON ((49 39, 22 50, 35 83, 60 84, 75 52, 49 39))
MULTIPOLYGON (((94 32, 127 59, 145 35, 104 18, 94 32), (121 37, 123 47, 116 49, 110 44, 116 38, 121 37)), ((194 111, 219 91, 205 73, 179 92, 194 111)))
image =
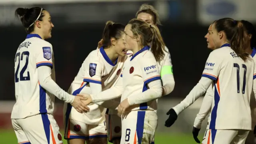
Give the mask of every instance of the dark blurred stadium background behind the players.
MULTIPOLYGON (((210 53, 204 38, 208 26, 217 18, 229 16, 209 14, 212 20, 202 23, 198 9, 204 6, 198 1, 200 0, 148 1, 160 13, 160 30, 173 64, 175 88, 170 96, 164 98, 184 98, 197 84, 210 53)), ((14 57, 19 44, 26 38, 21 22, 14 17, 17 7, 42 6, 50 12, 55 27, 52 38, 47 41, 53 46, 56 82, 67 91, 86 56, 96 49, 105 22, 112 20, 126 24, 134 18, 142 3, 144 2, 0 5, 0 100, 15 100, 14 57)))

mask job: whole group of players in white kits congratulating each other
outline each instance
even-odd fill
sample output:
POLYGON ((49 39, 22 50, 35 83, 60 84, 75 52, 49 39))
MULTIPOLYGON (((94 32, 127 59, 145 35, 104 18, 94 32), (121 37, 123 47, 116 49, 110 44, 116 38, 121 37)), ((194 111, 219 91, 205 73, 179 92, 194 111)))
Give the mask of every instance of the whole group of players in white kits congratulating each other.
MULTIPOLYGON (((45 41, 54 27, 50 13, 33 7, 18 8, 15 14, 28 33, 15 56, 11 119, 18 144, 62 144, 52 115, 55 96, 64 101, 68 144, 154 144, 157 100, 170 94, 175 82, 153 6, 142 4, 127 25, 106 22, 102 40, 85 58, 68 92, 55 82, 52 45, 45 41)), ((253 25, 244 20, 222 18, 210 25, 205 38, 213 51, 202 78, 167 112, 166 127, 206 93, 194 122, 195 141, 200 143, 201 123, 210 113, 202 144, 255 144, 255 36, 253 25)))

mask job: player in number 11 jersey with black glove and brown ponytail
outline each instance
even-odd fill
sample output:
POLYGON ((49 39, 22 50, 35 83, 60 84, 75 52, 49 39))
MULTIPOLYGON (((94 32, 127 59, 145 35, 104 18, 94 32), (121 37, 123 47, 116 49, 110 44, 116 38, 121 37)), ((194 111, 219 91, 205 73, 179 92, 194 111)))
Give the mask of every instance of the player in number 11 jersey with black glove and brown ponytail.
POLYGON ((166 126, 170 127, 177 115, 202 96, 213 82, 209 143, 244 143, 252 130, 249 102, 252 90, 256 92, 256 68, 252 57, 245 52, 248 42, 243 24, 231 18, 219 19, 212 25, 211 37, 217 49, 210 53, 198 84, 167 113, 170 116, 166 126))

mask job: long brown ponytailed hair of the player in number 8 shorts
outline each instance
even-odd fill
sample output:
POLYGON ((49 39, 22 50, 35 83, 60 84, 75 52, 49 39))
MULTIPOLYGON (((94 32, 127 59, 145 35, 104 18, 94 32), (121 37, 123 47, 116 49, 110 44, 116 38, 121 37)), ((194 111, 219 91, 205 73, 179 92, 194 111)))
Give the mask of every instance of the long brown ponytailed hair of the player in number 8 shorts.
POLYGON ((157 62, 164 59, 164 40, 158 30, 157 26, 149 25, 148 23, 138 20, 136 18, 130 20, 128 24, 131 24, 131 31, 135 38, 140 38, 141 46, 150 46, 151 52, 154 54, 157 62))

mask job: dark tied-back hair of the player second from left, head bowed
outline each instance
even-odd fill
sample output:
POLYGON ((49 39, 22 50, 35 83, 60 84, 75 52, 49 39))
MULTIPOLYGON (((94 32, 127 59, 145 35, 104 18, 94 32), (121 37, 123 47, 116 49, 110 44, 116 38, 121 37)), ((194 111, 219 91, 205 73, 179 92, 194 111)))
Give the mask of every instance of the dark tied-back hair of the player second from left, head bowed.
POLYGON ((120 23, 114 23, 112 21, 106 22, 106 26, 102 33, 101 44, 104 48, 108 48, 111 46, 111 38, 115 38, 118 40, 124 34, 125 26, 120 23))

